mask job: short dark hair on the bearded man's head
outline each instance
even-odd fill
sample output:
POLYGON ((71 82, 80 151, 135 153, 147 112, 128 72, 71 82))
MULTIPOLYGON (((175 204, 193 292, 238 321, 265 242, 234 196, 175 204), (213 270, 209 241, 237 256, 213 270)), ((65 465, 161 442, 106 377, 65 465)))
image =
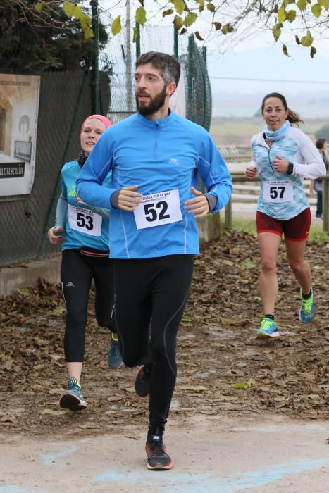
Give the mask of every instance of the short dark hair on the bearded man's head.
POLYGON ((161 53, 160 51, 147 51, 147 53, 137 58, 136 68, 139 65, 146 65, 147 63, 151 63, 151 65, 160 70, 161 77, 166 84, 175 82, 175 85, 178 85, 178 81, 180 80, 180 63, 174 56, 161 53))

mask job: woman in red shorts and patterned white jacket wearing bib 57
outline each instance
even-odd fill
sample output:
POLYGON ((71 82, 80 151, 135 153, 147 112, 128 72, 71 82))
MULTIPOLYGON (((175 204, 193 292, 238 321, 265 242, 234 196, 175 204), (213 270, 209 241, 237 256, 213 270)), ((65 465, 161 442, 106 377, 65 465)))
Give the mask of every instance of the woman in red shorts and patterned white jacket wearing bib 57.
POLYGON ((280 335, 274 308, 278 297, 276 264, 282 234, 290 268, 301 288, 299 320, 309 323, 314 317, 311 270, 304 258, 311 212, 302 180, 325 175, 316 146, 302 130, 291 126, 302 120, 288 108, 282 94, 267 94, 261 113, 266 126, 252 137, 252 162, 245 172, 250 180, 259 173, 261 180, 256 226, 261 251, 259 291, 264 317, 257 338, 280 335))

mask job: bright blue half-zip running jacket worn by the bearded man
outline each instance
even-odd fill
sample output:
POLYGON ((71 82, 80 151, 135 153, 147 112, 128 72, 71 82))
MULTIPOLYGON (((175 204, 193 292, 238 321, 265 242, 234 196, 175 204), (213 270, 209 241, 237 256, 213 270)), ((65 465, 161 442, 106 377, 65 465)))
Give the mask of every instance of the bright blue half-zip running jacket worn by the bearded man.
POLYGON ((216 197, 212 212, 219 211, 230 199, 232 180, 209 133, 173 112, 161 120, 135 113, 101 135, 80 172, 77 194, 88 204, 111 208, 111 258, 198 254, 197 222, 184 209, 185 201, 194 197, 191 187, 197 188, 197 172, 216 197), (110 188, 101 187, 110 170, 110 188), (111 205, 113 192, 132 185, 138 185, 136 192, 143 199, 149 194, 165 197, 144 206, 144 224, 154 220, 152 227, 137 228, 134 212, 111 205), (181 213, 174 222, 168 222, 170 191, 175 191, 175 216, 181 213))

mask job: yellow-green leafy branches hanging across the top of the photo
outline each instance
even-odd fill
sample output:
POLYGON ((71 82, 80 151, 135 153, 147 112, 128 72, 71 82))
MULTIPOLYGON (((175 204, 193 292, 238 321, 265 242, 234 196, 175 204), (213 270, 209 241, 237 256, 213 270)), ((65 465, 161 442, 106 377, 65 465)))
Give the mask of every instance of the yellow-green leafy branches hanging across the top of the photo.
MULTIPOLYGON (((283 30, 288 28, 293 31, 294 22, 296 25, 299 23, 299 26, 304 27, 300 36, 295 35, 295 42, 302 47, 311 48, 310 56, 312 58, 316 54, 316 47, 313 46, 314 33, 322 33, 324 32, 323 27, 328 26, 329 0, 254 1, 248 8, 244 6, 243 2, 240 4, 235 2, 233 5, 230 0, 221 2, 215 0, 169 0, 165 5, 161 5, 159 0, 154 0, 154 3, 159 7, 159 12, 162 12, 163 18, 172 19, 175 30, 179 31, 180 35, 185 34, 197 19, 204 18, 204 15, 209 14, 209 12, 213 14, 210 29, 216 32, 216 36, 237 33, 241 20, 245 19, 249 21, 251 28, 254 26, 257 29, 260 27, 261 29, 272 30, 275 42, 277 42, 283 30), (290 5, 292 8, 289 7, 290 5), (170 8, 168 8, 169 6, 170 8), (312 26, 311 29, 309 26, 312 26)), ((23 23, 29 24, 33 15, 35 16, 34 20, 39 23, 40 18, 42 19, 42 15, 44 15, 44 18, 48 20, 49 32, 55 30, 59 37, 63 34, 59 29, 56 30, 56 28, 62 27, 58 25, 59 18, 65 27, 70 26, 73 37, 77 35, 77 32, 80 32, 80 35, 82 32, 86 41, 93 36, 90 15, 84 11, 89 2, 85 0, 64 0, 63 3, 59 0, 54 2, 50 0, 6 0, 2 4, 5 4, 6 7, 0 7, 0 15, 1 10, 20 11, 19 18, 23 20, 23 23), (52 22, 54 19, 56 20, 55 23, 52 22)), ((111 13, 111 2, 108 4, 108 11, 111 13)), ((125 2, 119 0, 116 6, 118 4, 124 8, 125 2)), ((206 19, 209 23, 209 15, 206 19)), ((147 8, 144 7, 144 0, 139 0, 139 6, 135 10, 135 20, 142 26, 147 23, 147 8)), ((2 26, 0 25, 0 27, 2 26)), ((206 28, 206 30, 208 29, 206 28)), ((121 15, 118 15, 111 24, 111 32, 113 35, 117 35, 120 31, 121 15)), ((4 28, 1 32, 5 32, 4 28)), ((200 30, 200 32, 197 31, 196 36, 202 40, 204 34, 209 35, 209 32, 200 30)), ((54 36, 54 32, 52 35, 54 36)), ((283 54, 289 56, 285 45, 283 45, 283 54)), ((74 58, 76 59, 76 56, 71 57, 72 61, 74 58)))

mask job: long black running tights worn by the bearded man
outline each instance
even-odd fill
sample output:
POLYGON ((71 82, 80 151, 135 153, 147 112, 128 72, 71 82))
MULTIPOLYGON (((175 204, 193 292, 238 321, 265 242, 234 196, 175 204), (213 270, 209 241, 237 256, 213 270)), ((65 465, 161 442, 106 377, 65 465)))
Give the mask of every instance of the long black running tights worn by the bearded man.
POLYGON ((193 274, 193 255, 113 259, 115 318, 127 366, 152 364, 149 433, 162 435, 175 388, 176 334, 193 274))

